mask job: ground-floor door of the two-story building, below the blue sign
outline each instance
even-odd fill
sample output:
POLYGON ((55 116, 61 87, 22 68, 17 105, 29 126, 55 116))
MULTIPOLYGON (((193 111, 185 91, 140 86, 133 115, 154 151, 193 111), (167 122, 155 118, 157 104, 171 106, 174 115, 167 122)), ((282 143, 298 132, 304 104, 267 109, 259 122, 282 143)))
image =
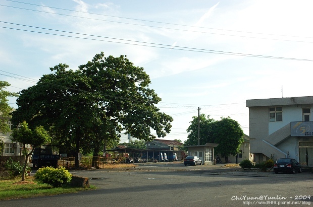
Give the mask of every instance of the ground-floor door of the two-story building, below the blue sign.
POLYGON ((313 166, 312 142, 299 142, 299 162, 303 166, 313 166))

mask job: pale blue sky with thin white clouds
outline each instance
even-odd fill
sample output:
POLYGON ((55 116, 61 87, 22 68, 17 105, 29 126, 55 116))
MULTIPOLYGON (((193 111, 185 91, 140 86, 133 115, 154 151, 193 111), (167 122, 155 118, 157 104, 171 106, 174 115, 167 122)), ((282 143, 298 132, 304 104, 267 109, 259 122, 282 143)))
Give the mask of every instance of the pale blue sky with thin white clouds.
MULTIPOLYGON (((101 51, 144 68, 171 115, 166 140, 187 140, 197 109, 249 135, 249 99, 312 96, 312 1, 0 0, 0 80, 33 86, 101 51)), ((9 103, 16 108, 15 98, 9 103)), ((126 142, 123 135, 121 142, 126 142)))

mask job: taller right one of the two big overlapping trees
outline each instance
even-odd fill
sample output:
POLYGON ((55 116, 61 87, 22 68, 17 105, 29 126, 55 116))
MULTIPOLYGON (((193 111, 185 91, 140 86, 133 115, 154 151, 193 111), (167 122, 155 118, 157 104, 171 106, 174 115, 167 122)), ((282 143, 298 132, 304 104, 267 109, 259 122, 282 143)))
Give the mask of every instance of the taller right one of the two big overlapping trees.
POLYGON ((173 119, 154 106, 161 98, 149 89, 151 82, 142 67, 135 66, 124 55, 105 57, 101 52, 79 69, 91 79, 100 114, 100 124, 96 127, 104 128, 95 133, 99 144, 94 145, 94 156, 98 155, 102 142, 119 139, 122 130, 145 142, 155 138, 153 131, 158 137, 169 133, 173 119))

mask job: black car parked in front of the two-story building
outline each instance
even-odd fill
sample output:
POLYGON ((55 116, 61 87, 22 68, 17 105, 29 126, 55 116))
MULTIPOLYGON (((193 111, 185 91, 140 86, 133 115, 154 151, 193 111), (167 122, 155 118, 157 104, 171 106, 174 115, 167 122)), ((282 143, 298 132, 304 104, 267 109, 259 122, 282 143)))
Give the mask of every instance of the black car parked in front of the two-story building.
POLYGON ((274 172, 277 174, 279 172, 290 172, 294 174, 295 172, 302 172, 302 167, 298 161, 291 158, 280 158, 274 164, 274 172))

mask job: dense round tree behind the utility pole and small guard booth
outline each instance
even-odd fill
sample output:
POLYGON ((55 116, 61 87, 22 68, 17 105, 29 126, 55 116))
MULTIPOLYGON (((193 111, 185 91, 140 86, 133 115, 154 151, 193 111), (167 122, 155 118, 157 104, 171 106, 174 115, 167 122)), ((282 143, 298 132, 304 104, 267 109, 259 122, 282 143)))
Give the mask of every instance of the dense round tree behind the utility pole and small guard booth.
MULTIPOLYGON (((198 144, 198 117, 193 116, 190 126, 187 128, 188 139, 184 142, 184 146, 192 146, 198 144)), ((230 117, 222 117, 216 121, 200 114, 200 145, 205 143, 217 143, 218 147, 215 152, 221 153, 228 162, 228 156, 236 155, 243 143, 243 130, 240 124, 230 117)))

